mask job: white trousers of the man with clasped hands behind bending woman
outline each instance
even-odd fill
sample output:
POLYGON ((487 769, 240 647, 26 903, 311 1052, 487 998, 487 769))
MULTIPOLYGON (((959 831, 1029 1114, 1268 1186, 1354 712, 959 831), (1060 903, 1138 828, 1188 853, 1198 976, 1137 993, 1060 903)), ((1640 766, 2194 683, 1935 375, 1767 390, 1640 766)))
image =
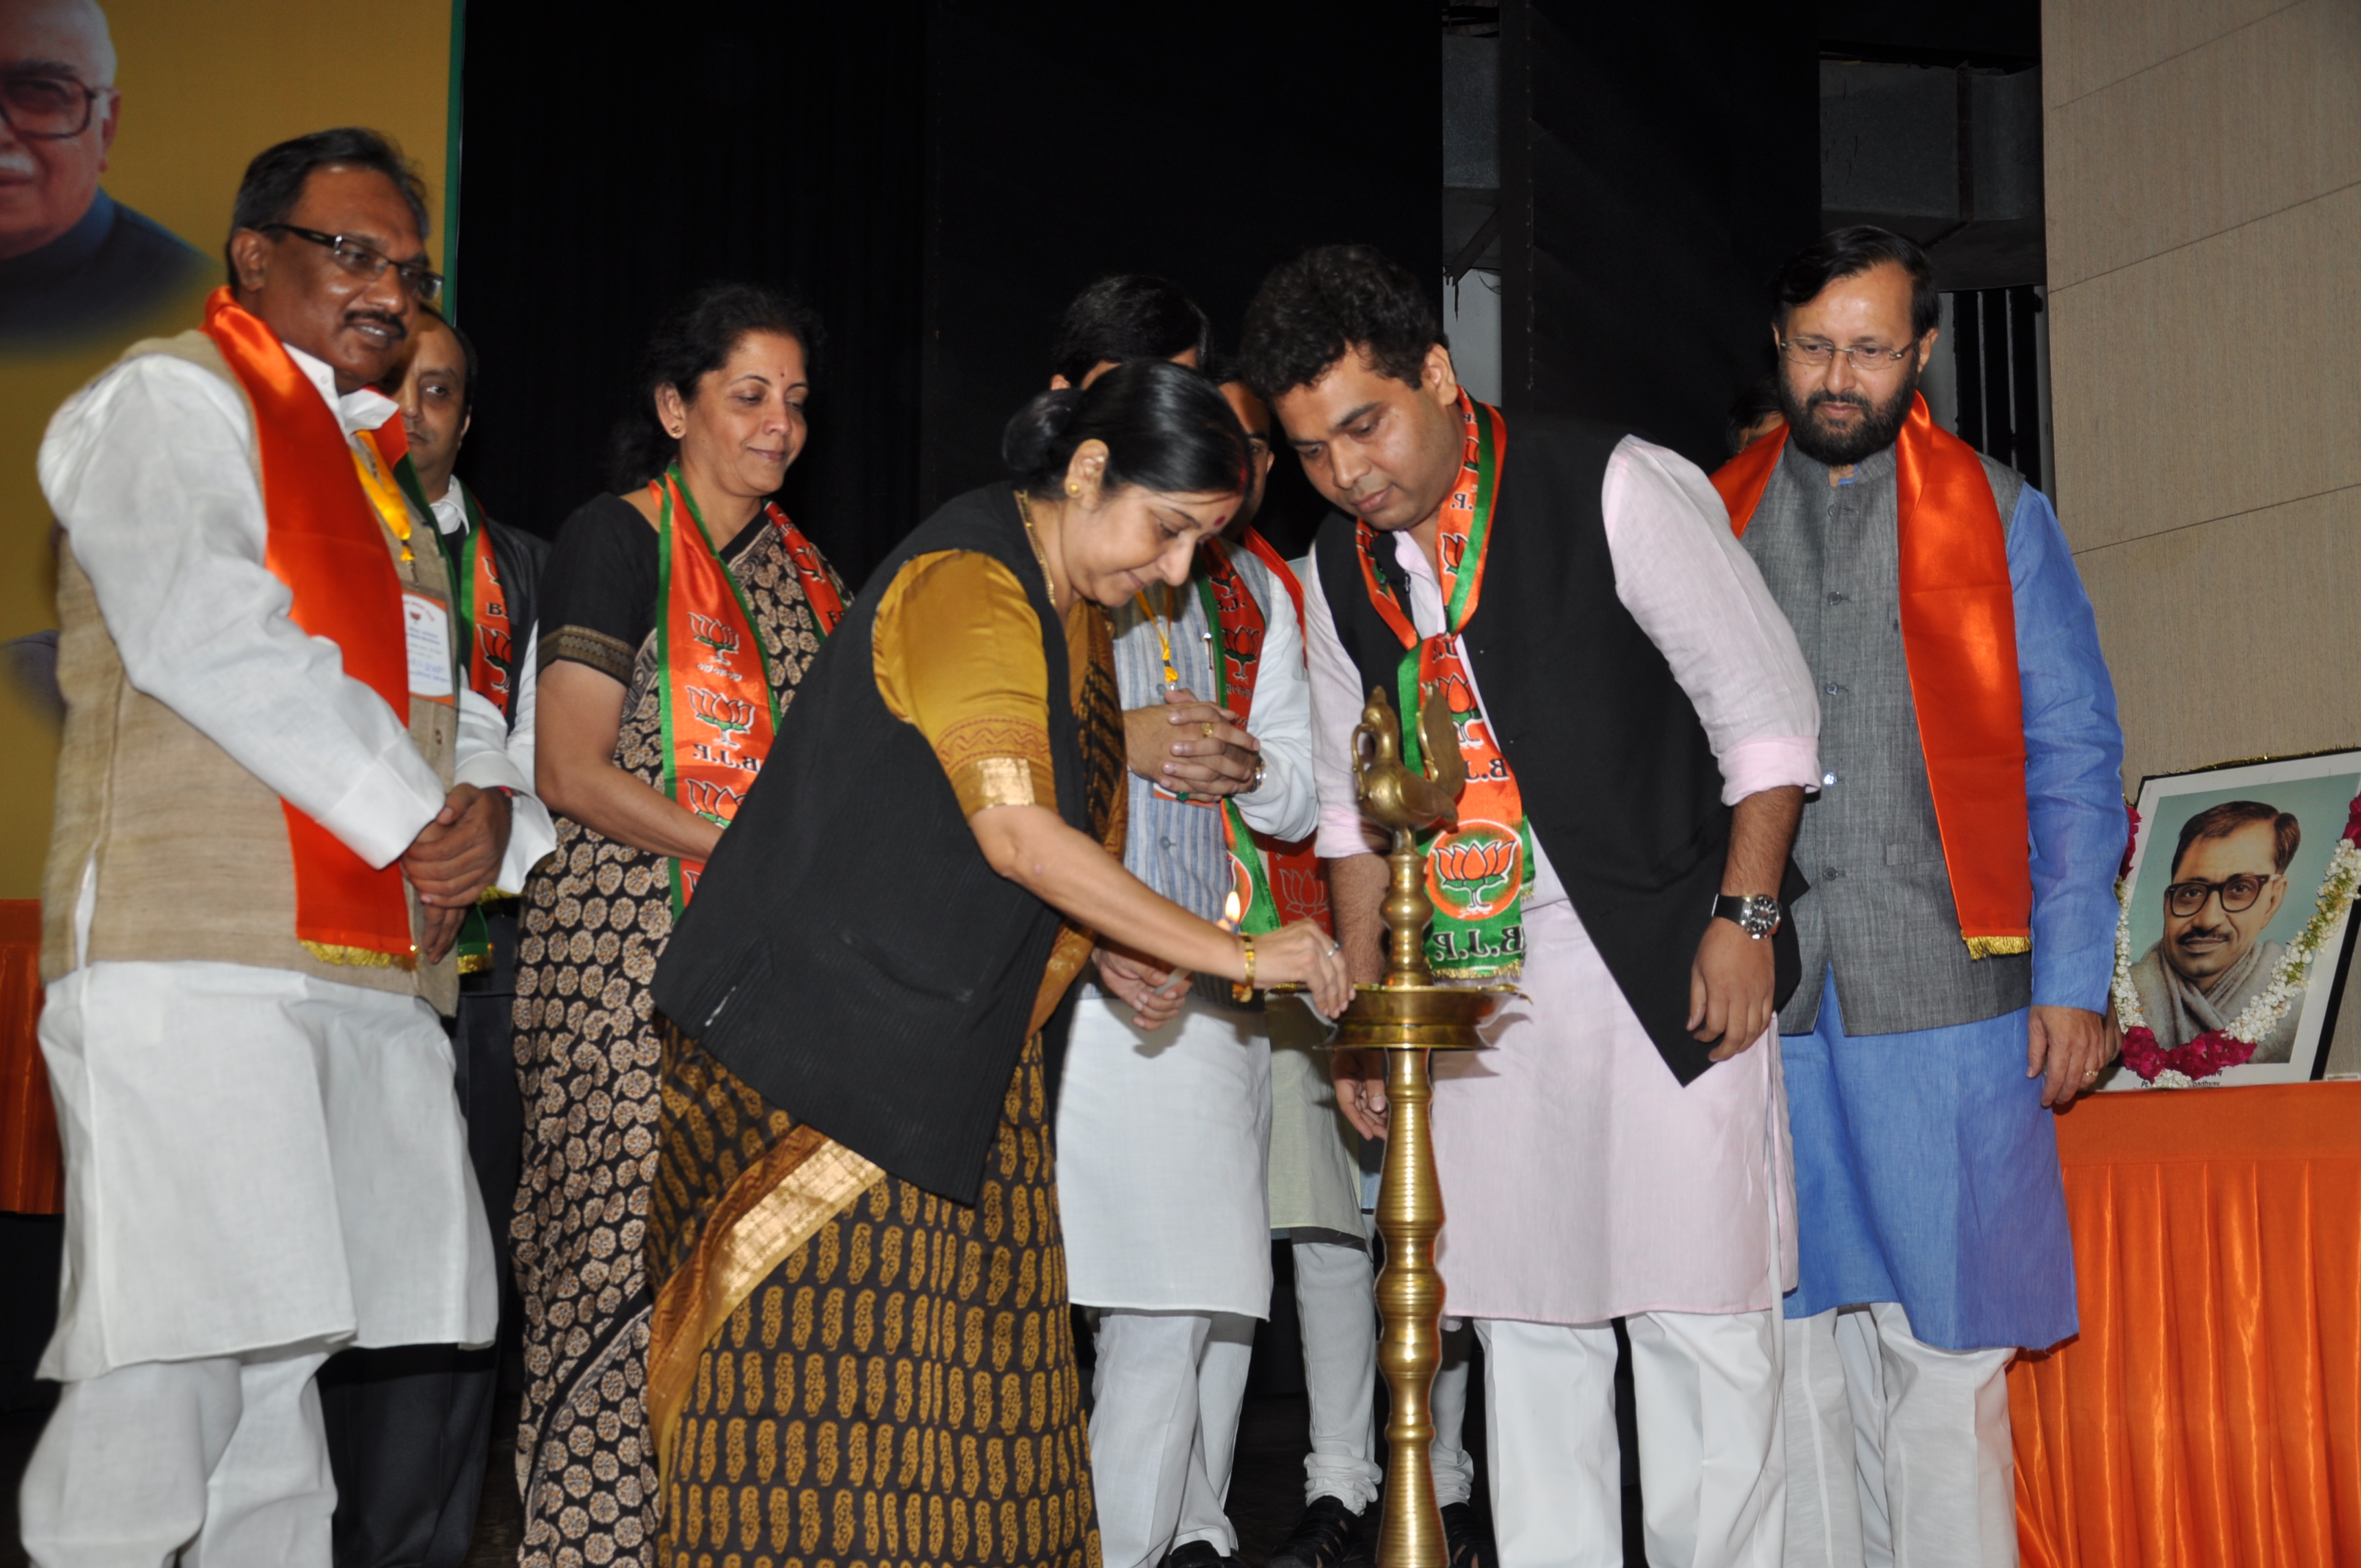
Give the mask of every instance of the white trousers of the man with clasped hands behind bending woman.
POLYGON ((1251 1355, 1240 1313, 1098 1315, 1091 1495, 1107 1568, 1155 1568, 1192 1540, 1237 1551, 1223 1502, 1251 1355))

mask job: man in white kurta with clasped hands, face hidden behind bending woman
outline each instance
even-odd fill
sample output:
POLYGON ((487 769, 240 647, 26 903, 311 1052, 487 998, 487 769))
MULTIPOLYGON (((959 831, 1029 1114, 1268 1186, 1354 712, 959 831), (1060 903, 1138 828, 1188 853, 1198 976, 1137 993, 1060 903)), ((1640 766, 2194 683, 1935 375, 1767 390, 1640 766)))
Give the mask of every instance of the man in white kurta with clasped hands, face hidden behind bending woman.
MULTIPOLYGON (((1268 439, 1258 453, 1268 472, 1268 439)), ((1244 730, 1195 701, 1216 690, 1218 631, 1195 581, 1112 612, 1124 708, 1150 720, 1126 725, 1150 741, 1131 746, 1124 867, 1204 919, 1221 919, 1232 890, 1216 796, 1235 796, 1247 827, 1275 838, 1306 838, 1317 819, 1294 602, 1242 543, 1225 557, 1263 616, 1244 730), (1166 671, 1178 678, 1171 701, 1166 671), (1152 723, 1171 716, 1183 723, 1152 723), (1197 801, 1159 791, 1152 777, 1197 801)), ((1107 1568, 1195 1559, 1211 1568, 1237 1551, 1223 1502, 1254 1322, 1270 1315, 1270 1025, 1237 1006, 1228 982, 1166 978, 1114 954, 1100 954, 1100 980, 1081 987, 1058 1091, 1070 1294, 1098 1308, 1100 1549, 1107 1568), (1150 997, 1166 987, 1178 999, 1171 1018, 1171 1001, 1150 997)))

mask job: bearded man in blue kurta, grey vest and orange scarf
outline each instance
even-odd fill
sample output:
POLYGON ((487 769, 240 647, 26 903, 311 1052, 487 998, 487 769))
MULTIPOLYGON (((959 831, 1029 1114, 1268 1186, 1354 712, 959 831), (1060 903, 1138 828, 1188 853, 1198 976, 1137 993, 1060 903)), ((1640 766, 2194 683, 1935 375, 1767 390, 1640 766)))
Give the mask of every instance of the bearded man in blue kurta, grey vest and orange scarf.
POLYGON ((2016 1563, 2004 1370, 2075 1332, 2049 1110, 2115 1041, 2123 732, 2049 501, 1917 394, 1924 253, 1775 279, 1787 430, 1714 475, 1820 682, 1780 1013, 1790 1568, 2016 1563))

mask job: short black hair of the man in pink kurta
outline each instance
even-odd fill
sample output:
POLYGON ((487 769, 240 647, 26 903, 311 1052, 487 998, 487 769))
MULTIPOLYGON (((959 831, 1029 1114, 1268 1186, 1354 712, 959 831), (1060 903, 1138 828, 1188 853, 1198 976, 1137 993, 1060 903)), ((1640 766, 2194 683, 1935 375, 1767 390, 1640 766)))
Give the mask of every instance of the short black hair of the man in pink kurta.
POLYGON ((1419 385, 1443 321, 1426 288, 1374 246, 1317 246, 1263 279, 1240 338, 1247 385, 1275 409, 1355 347, 1384 375, 1419 385))

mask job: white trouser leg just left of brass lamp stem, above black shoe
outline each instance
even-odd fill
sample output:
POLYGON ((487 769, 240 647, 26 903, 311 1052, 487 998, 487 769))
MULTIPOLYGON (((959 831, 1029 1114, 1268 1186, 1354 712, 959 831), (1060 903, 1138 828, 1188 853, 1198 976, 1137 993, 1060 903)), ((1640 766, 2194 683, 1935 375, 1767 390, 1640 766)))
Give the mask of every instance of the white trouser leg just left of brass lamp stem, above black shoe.
POLYGON ((1360 1514, 1384 1478, 1376 1431, 1376 1299, 1367 1247, 1296 1242, 1296 1315, 1303 1322, 1303 1393, 1313 1450, 1303 1455, 1303 1502, 1336 1497, 1360 1514))

